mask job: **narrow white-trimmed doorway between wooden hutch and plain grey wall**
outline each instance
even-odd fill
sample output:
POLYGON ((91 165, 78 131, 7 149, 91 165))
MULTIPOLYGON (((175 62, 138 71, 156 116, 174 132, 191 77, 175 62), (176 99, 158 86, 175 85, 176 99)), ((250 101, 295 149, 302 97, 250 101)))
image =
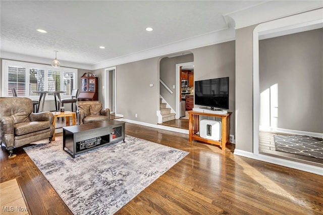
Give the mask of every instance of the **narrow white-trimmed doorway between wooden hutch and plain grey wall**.
POLYGON ((117 112, 117 80, 116 67, 104 69, 104 106, 109 108, 111 113, 117 112), (104 87, 105 86, 105 87, 104 87))

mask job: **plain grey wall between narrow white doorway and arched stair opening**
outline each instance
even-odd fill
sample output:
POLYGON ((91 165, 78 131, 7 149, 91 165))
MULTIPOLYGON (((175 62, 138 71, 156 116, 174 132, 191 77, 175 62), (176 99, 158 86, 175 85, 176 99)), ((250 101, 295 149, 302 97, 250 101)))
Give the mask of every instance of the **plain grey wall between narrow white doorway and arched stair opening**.
POLYGON ((117 113, 125 119, 157 124, 158 63, 158 58, 151 58, 117 66, 117 113))

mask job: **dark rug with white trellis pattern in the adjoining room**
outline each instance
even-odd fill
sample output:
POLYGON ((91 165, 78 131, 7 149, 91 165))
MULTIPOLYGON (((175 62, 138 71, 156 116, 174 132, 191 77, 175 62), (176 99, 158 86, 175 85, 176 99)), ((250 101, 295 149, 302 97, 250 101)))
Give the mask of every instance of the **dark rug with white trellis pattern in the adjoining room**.
POLYGON ((276 151, 323 158, 323 139, 301 135, 275 135, 276 151))

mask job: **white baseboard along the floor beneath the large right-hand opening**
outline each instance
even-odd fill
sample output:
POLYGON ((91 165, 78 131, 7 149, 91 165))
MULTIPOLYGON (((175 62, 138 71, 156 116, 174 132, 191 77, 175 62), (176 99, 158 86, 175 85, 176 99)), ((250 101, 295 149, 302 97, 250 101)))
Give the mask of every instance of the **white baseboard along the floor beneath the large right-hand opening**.
POLYGON ((282 159, 279 157, 264 154, 254 154, 240 149, 235 149, 233 154, 323 176, 323 169, 321 167, 293 162, 292 160, 282 159))

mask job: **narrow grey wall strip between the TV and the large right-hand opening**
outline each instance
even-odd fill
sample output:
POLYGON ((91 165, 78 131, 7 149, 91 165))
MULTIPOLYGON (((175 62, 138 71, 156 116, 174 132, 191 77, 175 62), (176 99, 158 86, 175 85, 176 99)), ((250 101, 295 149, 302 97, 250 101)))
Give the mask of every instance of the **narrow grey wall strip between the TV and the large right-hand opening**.
POLYGON ((252 31, 236 30, 236 149, 253 151, 252 31))

